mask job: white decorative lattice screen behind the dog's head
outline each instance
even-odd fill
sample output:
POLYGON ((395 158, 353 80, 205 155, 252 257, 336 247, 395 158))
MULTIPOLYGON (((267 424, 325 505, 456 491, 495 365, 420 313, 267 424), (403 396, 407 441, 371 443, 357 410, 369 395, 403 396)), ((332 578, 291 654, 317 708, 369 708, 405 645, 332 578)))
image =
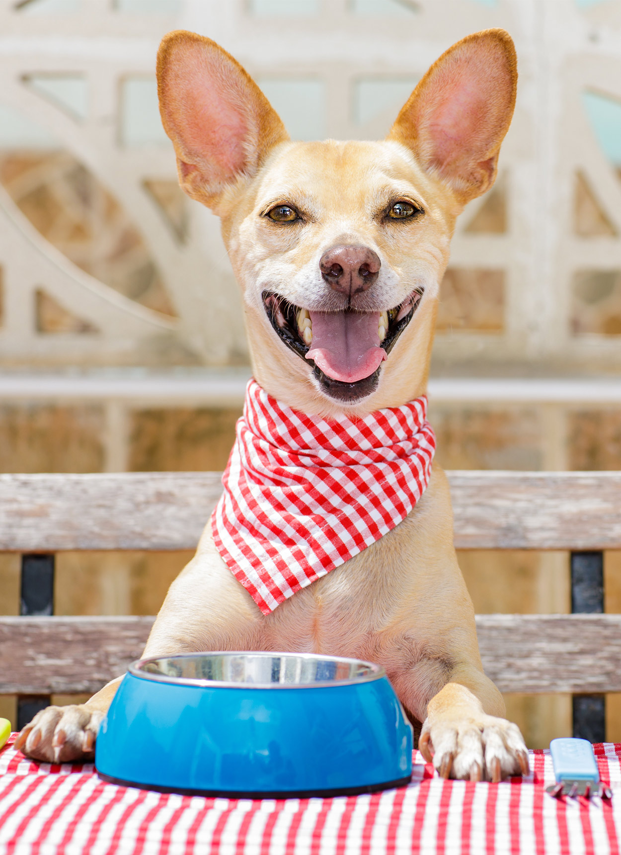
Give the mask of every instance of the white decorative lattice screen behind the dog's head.
POLYGON ((621 181, 583 98, 593 91, 621 101, 618 0, 32 0, 18 6, 4 0, 0 7, 0 121, 3 108, 19 111, 120 201, 144 235, 177 318, 79 270, 0 192, 0 361, 139 363, 149 349, 177 342, 199 363, 243 362, 240 298, 218 222, 188 202, 188 237, 181 242, 144 189, 145 180, 175 177, 172 147, 154 118, 155 50, 164 32, 185 27, 225 45, 301 136, 365 139, 384 135, 403 92, 442 50, 468 32, 500 26, 515 39, 520 73, 501 153, 507 230, 467 232, 485 203, 477 200, 458 223, 451 263, 505 272, 504 329, 441 333, 436 357, 440 363, 544 361, 570 370, 621 364, 618 337, 571 331, 576 271, 621 269, 621 181), (577 171, 616 234, 575 233, 577 171), (100 332, 37 333, 32 307, 40 287, 100 332))

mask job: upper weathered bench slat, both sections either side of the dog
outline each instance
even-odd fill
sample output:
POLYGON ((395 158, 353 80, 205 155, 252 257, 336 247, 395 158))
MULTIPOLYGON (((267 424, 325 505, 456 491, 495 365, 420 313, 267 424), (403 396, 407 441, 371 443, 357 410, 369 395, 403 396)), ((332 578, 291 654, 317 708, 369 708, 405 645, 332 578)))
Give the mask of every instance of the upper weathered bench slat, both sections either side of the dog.
MULTIPOLYGON (((448 473, 458 549, 621 549, 621 473, 448 473)), ((0 551, 193 549, 220 473, 0 475, 0 551)))

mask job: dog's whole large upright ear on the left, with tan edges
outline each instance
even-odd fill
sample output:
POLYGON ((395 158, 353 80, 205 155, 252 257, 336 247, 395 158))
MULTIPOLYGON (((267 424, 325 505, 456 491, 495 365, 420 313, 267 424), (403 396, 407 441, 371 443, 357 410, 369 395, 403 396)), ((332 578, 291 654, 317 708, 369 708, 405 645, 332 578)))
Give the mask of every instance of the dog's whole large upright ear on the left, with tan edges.
POLYGON ((162 39, 157 90, 161 121, 177 154, 179 184, 211 208, 227 185, 255 174, 272 146, 289 139, 241 65, 196 32, 176 30, 162 39))

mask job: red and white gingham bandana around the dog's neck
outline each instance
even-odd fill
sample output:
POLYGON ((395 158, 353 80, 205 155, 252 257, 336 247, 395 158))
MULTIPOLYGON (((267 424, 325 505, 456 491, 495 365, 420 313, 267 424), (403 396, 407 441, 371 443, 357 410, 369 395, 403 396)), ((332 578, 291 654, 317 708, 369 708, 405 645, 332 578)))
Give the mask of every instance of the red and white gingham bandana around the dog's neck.
POLYGON ((426 412, 427 399, 416 398, 325 421, 279 404, 250 380, 212 532, 264 615, 413 509, 436 451, 426 412))

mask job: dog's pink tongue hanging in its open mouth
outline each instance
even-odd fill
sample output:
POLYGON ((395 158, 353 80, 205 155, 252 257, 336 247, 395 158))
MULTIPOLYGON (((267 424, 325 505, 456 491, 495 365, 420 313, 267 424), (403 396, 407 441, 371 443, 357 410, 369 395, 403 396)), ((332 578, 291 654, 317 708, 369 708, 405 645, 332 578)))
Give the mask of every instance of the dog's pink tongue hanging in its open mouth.
POLYGON ((379 312, 309 312, 313 344, 306 358, 332 380, 355 383, 379 368, 379 312))

